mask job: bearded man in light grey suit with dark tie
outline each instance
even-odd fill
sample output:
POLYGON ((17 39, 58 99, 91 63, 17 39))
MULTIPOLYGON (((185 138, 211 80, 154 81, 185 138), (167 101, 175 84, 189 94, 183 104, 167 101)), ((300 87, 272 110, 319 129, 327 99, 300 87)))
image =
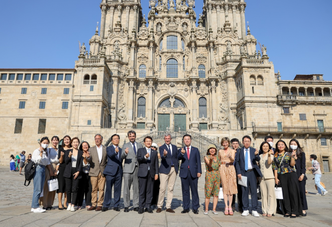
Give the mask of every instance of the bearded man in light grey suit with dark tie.
POLYGON ((124 212, 129 212, 130 205, 130 187, 132 184, 132 206, 134 211, 138 211, 138 162, 136 160, 137 150, 143 148, 143 145, 137 143, 136 132, 130 130, 128 133, 129 142, 122 147, 121 159, 124 159, 124 212))

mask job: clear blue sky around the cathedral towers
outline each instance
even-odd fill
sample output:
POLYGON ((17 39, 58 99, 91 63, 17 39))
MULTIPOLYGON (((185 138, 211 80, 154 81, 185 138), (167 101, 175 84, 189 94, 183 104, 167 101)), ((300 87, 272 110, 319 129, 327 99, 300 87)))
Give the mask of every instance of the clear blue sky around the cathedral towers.
MULTIPOLYGON (((2 1, 0 68, 73 68, 79 55, 78 41, 88 44, 100 22, 100 2, 2 1)), ((148 14, 148 0, 141 2, 143 14, 148 14)), ((317 73, 332 80, 331 0, 321 5, 312 0, 246 2, 251 34, 267 46, 267 54, 282 79, 317 73)), ((203 0, 196 0, 197 15, 202 7, 203 0)))

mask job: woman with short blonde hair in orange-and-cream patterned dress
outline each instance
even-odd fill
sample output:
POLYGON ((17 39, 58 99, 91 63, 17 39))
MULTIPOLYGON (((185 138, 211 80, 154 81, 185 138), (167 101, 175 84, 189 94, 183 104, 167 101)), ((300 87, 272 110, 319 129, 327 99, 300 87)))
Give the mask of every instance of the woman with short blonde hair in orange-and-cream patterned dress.
POLYGON ((236 172, 233 166, 235 150, 230 149, 230 141, 227 137, 221 139, 221 145, 224 147, 224 149, 219 151, 218 157, 221 164, 219 167, 219 172, 225 202, 224 214, 233 215, 231 204, 233 201, 233 194, 237 193, 236 172))

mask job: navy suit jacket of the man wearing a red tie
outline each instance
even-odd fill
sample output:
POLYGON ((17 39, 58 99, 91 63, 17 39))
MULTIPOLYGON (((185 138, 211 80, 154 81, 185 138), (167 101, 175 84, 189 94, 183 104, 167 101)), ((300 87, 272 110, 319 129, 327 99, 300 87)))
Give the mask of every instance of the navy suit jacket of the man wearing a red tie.
POLYGON ((200 151, 196 147, 191 147, 190 156, 188 160, 187 155, 187 148, 185 147, 185 154, 183 155, 181 153, 180 148, 178 150, 178 159, 181 160, 181 166, 180 166, 180 177, 187 177, 188 176, 188 166, 190 167, 190 175, 194 178, 197 177, 197 173, 202 173, 202 166, 201 166, 201 155, 200 151))

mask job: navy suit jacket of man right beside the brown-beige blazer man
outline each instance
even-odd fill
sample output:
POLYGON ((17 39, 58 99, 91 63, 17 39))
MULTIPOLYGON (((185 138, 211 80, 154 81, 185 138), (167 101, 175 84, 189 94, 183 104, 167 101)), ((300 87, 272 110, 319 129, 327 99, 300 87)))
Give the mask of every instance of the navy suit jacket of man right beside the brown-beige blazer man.
POLYGON ((107 153, 107 164, 104 170, 104 175, 114 176, 116 175, 118 169, 120 170, 121 176, 123 176, 123 168, 122 168, 122 158, 121 153, 122 149, 119 147, 118 154, 115 152, 115 147, 113 144, 106 148, 107 153), (119 156, 119 158, 118 158, 119 156))

